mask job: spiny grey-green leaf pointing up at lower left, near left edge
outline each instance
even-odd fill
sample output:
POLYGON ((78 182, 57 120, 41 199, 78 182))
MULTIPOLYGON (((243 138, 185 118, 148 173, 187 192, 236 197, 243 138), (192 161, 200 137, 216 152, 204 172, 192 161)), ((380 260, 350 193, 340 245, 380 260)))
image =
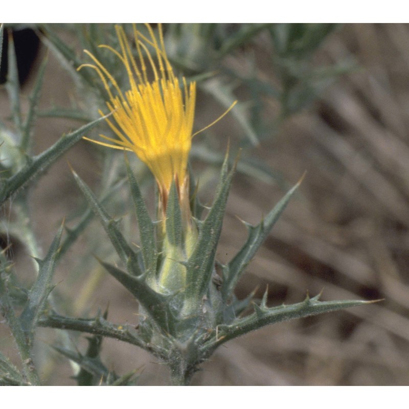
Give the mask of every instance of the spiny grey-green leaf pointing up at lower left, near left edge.
POLYGON ((44 260, 36 259, 39 265, 38 276, 30 288, 26 306, 20 315, 21 326, 25 331, 33 331, 38 318, 46 305, 47 298, 53 289, 51 280, 59 257, 62 231, 63 225, 61 225, 56 237, 51 243, 46 258, 44 258, 44 260))

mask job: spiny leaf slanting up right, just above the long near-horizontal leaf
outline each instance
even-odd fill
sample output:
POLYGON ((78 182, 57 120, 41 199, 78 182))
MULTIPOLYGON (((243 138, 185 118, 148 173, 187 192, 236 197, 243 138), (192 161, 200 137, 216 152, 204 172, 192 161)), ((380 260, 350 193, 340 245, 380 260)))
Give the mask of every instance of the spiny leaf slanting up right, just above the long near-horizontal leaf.
POLYGON ((221 287, 221 293, 224 302, 226 302, 233 294, 234 288, 240 280, 240 277, 243 275, 245 267, 252 260, 264 240, 270 234, 272 227, 286 208, 292 195, 300 186, 300 183, 301 180, 287 192, 287 194, 257 226, 245 223, 248 230, 247 241, 233 259, 223 267, 223 284, 221 287))

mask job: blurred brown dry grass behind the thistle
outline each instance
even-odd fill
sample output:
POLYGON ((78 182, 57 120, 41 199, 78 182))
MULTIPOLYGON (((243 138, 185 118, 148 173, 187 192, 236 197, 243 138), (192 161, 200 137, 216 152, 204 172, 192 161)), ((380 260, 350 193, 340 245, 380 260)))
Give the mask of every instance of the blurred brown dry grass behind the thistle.
MULTIPOLYGON (((262 38, 258 47, 263 50, 262 38)), ((409 384, 409 26, 345 25, 328 38, 316 58, 332 62, 354 58, 360 69, 340 77, 305 112, 252 150, 289 184, 307 174, 299 194, 249 265, 238 295, 257 286, 261 295, 268 285, 270 305, 302 301, 307 290, 313 295, 323 290, 324 300, 384 301, 281 323, 234 340, 203 365, 195 385, 409 384)), ((55 101, 69 106, 75 98, 71 79, 52 55, 49 59, 43 105, 55 101)), ((262 62, 259 74, 274 81, 274 73, 262 62)), ((209 112, 200 110, 212 104, 206 98, 199 95, 197 127, 208 122, 204 115, 209 112)), ((3 112, 3 92, 1 99, 3 112)), ((265 115, 275 115, 275 109, 266 100, 265 115)), ((215 107, 209 115, 214 118, 218 110, 215 107)), ((77 126, 39 120, 36 150, 77 126)), ((224 151, 228 137, 232 145, 238 142, 232 129, 236 128, 229 122, 216 125, 212 133, 219 140, 211 142, 213 148, 224 151)), ((205 137, 195 137, 194 143, 200 138, 205 137)), ((67 160, 88 183, 98 182, 99 158, 93 146, 81 142, 34 186, 33 215, 44 248, 62 216, 79 202, 67 160)), ((283 193, 278 184, 236 175, 219 259, 233 256, 245 238, 236 216, 257 223, 283 193)), ((87 237, 60 265, 57 291, 73 300, 78 313, 95 313, 109 302, 113 322, 136 322, 134 301, 97 271, 92 257, 85 274, 70 275, 72 260, 81 254, 87 237), (100 278, 95 295, 81 304, 81 291, 95 275, 100 278)), ((17 247, 15 258, 24 265, 27 255, 17 247)), ((39 330, 39 344, 48 344, 52 334, 39 330)), ((76 335, 70 336, 75 343, 76 335)), ((6 338, 5 332, 3 345, 6 338)), ((84 340, 80 345, 85 346, 84 340)), ((39 346, 39 361, 43 350, 50 353, 49 347, 39 346)), ((164 366, 144 351, 107 339, 103 355, 118 373, 143 366, 140 384, 168 382, 164 366)), ((69 378, 69 363, 54 353, 52 357, 44 358, 42 365, 46 382, 75 384, 69 378)))

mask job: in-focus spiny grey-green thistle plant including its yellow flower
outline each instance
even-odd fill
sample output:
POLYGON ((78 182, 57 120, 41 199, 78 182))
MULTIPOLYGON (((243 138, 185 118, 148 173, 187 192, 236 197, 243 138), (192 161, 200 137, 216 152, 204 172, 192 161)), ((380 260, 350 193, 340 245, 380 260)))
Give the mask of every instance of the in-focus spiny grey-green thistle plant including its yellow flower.
MULTIPOLYGON (((24 203, 26 198, 19 188, 51 163, 57 153, 60 155, 64 149, 84 137, 103 147, 124 151, 140 242, 134 246, 127 241, 121 221, 108 213, 103 201, 73 169, 75 181, 89 210, 76 229, 66 229, 64 242, 61 242, 62 225, 46 256, 37 257, 37 279, 22 301, 22 312, 18 315, 12 295, 11 264, 5 252, 1 254, 1 308, 18 345, 23 367, 20 374, 5 356, 0 356, 4 371, 2 382, 40 383, 32 359, 36 326, 93 335, 89 338, 86 355, 67 346, 55 347, 79 365, 78 380, 94 376, 107 384, 129 383, 133 374, 118 376, 107 370, 99 360, 102 338, 111 337, 149 351, 170 368, 172 384, 188 385, 200 364, 209 359, 220 345, 233 338, 285 320, 366 304, 365 301, 322 302, 319 294, 312 298, 307 295, 298 304, 269 307, 267 289, 261 300, 255 299, 254 293, 244 299, 235 296, 236 286, 248 263, 269 235, 301 180, 259 224, 245 223, 248 231, 245 243, 229 262, 218 263, 216 249, 239 158, 232 161, 229 151, 226 152, 210 206, 202 205, 198 199, 198 184, 188 160, 194 135, 224 117, 235 102, 210 125, 193 133, 196 82, 188 81, 185 77, 179 79, 174 74, 165 49, 162 26, 158 26, 157 32, 150 25, 145 26, 144 32, 133 26, 132 42, 121 26, 116 27, 116 35, 119 49, 105 44, 100 48, 113 55, 126 72, 127 87, 123 88, 106 68, 102 54, 97 57, 95 53, 85 51, 91 61, 79 64, 78 70, 94 70, 102 83, 106 109, 100 110, 101 118, 66 135, 48 151, 26 160, 22 168, 7 169, 1 197, 4 202, 11 195, 18 194, 17 197, 24 203), (100 139, 87 136, 88 130, 99 126, 102 121, 107 123, 110 133, 101 134, 100 139), (154 218, 150 216, 138 178, 132 171, 131 163, 136 158, 134 155, 128 157, 126 151, 133 152, 156 180, 157 208, 154 218), (102 224, 120 259, 118 264, 104 259, 98 261, 138 301, 137 327, 113 324, 108 321, 106 313, 91 319, 64 316, 57 313, 54 306, 53 272, 66 243, 81 232, 91 212, 102 224)), ((36 88, 34 96, 35 93, 36 88)), ((26 127, 19 122, 17 114, 15 120, 24 136, 26 127)), ((24 138, 20 141, 24 142, 24 138)))

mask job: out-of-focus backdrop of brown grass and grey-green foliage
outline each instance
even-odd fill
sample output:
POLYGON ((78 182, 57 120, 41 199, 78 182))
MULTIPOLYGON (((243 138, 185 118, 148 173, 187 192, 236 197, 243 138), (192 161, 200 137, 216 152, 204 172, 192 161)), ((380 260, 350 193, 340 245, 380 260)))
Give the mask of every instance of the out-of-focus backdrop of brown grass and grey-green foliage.
MULTIPOLYGON (((38 153, 98 117, 97 106, 103 107, 98 79, 92 70, 77 74, 75 69, 89 62, 83 48, 101 53, 95 45, 115 43, 115 34, 111 25, 38 26, 26 32, 29 43, 21 33, 27 27, 13 29, 19 67, 30 67, 20 74, 23 106, 38 65, 48 59, 33 137, 38 153), (27 44, 36 53, 30 55, 27 44)), ((194 137, 191 155, 206 204, 212 201, 228 143, 232 157, 242 149, 217 254, 220 262, 233 257, 244 242, 241 220, 257 224, 306 172, 236 295, 243 298, 257 289, 261 297, 268 286, 269 306, 297 303, 307 292, 315 296, 321 291, 323 300, 383 299, 233 340, 202 366, 193 384, 408 384, 409 26, 180 24, 165 25, 164 31, 175 70, 198 82, 195 130, 239 101, 228 117, 194 137)), ((109 54, 100 55, 109 59, 109 54)), ((112 70, 120 70, 111 63, 112 70)), ((5 77, 2 71, 2 81, 5 77)), ((8 123, 4 88, 0 112, 1 121, 8 123)), ((150 175, 137 159, 131 161, 153 210, 150 175)), ((30 187, 32 219, 44 251, 63 217, 74 225, 85 206, 67 162, 96 192, 115 186, 106 206, 112 215, 130 220, 124 230, 137 242, 126 183, 119 183, 124 179, 122 153, 81 141, 30 187)), ((30 285, 30 255, 7 229, 12 218, 11 199, 2 210, 2 243, 13 244, 10 258, 20 281, 30 285)), ((58 312, 94 316, 109 304, 110 321, 136 325, 135 301, 101 270, 94 254, 115 260, 96 221, 58 267, 53 291, 58 312)), ((1 327, 0 347, 12 357, 16 351, 10 334, 1 327)), ((37 331, 42 379, 44 384, 74 385, 70 362, 52 349, 61 336, 56 332, 37 331)), ((68 338, 85 351, 84 336, 70 333, 68 338)), ((117 340, 104 339, 102 359, 119 374, 141 368, 138 384, 168 382, 161 363, 117 340)))

